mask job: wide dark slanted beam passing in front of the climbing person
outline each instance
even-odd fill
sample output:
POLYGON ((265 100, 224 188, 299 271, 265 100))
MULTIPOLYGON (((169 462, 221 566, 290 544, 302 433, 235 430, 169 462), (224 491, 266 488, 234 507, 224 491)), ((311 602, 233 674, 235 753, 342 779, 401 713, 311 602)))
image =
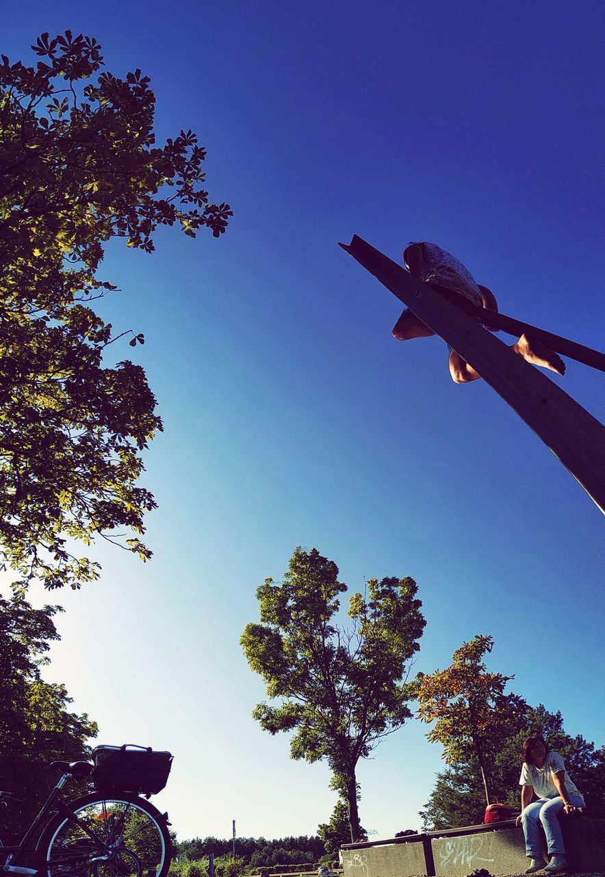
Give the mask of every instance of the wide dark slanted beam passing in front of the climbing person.
POLYGON ((481 374, 605 514, 605 427, 503 341, 354 235, 347 253, 481 374))

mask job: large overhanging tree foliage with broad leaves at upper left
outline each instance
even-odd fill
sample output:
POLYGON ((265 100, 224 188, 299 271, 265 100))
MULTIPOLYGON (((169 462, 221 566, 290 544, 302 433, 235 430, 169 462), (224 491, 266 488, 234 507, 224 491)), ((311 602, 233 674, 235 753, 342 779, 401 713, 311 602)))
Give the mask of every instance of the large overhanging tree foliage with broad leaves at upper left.
POLYGON ((118 544, 151 555, 139 536, 155 502, 137 479, 162 424, 143 368, 105 362, 128 333, 90 307, 116 289, 97 276, 104 246, 151 253, 158 225, 218 237, 232 215, 201 188, 193 132, 155 146, 140 70, 99 74, 101 46, 70 31, 32 49, 35 68, 0 64, 0 561, 21 592, 34 577, 46 588, 98 577, 68 540, 126 527, 135 535, 118 544))

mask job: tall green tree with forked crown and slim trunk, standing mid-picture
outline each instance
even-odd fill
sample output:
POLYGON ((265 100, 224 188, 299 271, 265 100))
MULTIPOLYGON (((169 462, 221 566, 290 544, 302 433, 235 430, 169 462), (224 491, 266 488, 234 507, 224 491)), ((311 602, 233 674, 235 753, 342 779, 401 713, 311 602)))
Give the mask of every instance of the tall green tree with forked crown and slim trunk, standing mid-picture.
POLYGON ((317 549, 297 548, 281 584, 257 589, 260 624, 240 640, 250 668, 278 704, 257 704, 264 731, 295 731, 293 759, 327 759, 331 787, 348 803, 351 839, 359 837, 355 768, 412 716, 410 660, 425 627, 413 579, 370 579, 349 599, 352 626, 337 624, 347 586, 317 549))

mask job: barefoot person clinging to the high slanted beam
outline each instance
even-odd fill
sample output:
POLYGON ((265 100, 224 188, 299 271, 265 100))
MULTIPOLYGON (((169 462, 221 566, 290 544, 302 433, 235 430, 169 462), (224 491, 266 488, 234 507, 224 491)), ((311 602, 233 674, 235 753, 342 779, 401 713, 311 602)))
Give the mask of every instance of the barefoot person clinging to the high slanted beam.
MULTIPOLYGON (((429 244, 426 240, 416 243, 411 241, 404 250, 404 264, 411 275, 418 277, 431 289, 435 289, 441 296, 447 298, 448 302, 460 304, 461 299, 468 299, 469 302, 487 310, 498 310, 494 294, 486 286, 476 283, 468 268, 437 244, 429 244)), ((497 332, 495 327, 485 323, 483 325, 490 332, 497 332)), ((393 335, 399 341, 426 338, 434 334, 433 330, 419 320, 409 308, 405 308, 393 326, 393 335)), ((565 374, 565 362, 559 354, 549 350, 538 339, 531 338, 527 332, 518 339, 517 344, 512 345, 512 350, 534 366, 550 368, 557 374, 565 374)), ((449 372, 456 383, 468 383, 481 377, 481 374, 478 374, 451 348, 449 372)))

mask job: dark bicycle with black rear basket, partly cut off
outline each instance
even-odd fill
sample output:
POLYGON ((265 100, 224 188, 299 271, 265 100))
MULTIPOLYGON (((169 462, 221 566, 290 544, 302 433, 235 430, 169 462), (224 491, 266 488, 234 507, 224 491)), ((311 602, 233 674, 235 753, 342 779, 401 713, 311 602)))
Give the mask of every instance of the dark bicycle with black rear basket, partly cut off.
MULTIPOLYGON (((0 873, 143 877, 145 872, 145 877, 165 877, 172 859, 168 814, 160 813, 147 799, 165 787, 172 755, 151 749, 133 752, 126 745, 97 746, 93 761, 53 762, 51 766, 61 771, 60 780, 20 844, 3 846, 0 841, 0 873), (61 797, 60 790, 70 777, 87 776, 95 791, 72 802, 61 797)), ((17 800, 11 793, 0 792, 4 806, 11 799, 17 800)))

